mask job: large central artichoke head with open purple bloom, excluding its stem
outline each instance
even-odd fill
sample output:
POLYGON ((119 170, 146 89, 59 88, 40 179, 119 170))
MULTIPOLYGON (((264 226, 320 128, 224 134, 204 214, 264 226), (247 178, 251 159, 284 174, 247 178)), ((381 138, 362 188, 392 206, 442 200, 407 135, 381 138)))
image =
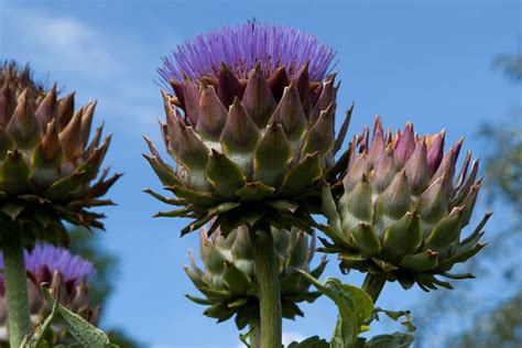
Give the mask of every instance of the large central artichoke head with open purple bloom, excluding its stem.
POLYGON ((292 28, 248 23, 200 35, 177 47, 159 70, 161 126, 170 166, 149 141, 145 155, 180 208, 160 216, 191 217, 189 232, 216 218, 210 232, 247 224, 311 230, 320 209, 323 177, 336 177, 338 85, 325 76, 334 51, 292 28))

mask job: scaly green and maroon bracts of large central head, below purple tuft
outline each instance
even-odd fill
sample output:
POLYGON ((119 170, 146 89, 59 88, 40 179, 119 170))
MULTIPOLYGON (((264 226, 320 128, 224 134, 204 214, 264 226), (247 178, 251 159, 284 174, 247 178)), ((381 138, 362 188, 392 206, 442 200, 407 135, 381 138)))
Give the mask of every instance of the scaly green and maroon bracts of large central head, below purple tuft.
POLYGON ((307 66, 293 79, 284 67, 265 76, 260 65, 244 80, 226 66, 219 78, 172 80, 164 94, 163 139, 176 168, 148 140, 145 155, 177 198, 150 194, 178 209, 159 216, 194 219, 182 233, 216 217, 210 231, 263 221, 311 231, 320 209, 323 177, 335 176, 334 155, 349 117, 335 139, 335 76, 312 83, 307 66))

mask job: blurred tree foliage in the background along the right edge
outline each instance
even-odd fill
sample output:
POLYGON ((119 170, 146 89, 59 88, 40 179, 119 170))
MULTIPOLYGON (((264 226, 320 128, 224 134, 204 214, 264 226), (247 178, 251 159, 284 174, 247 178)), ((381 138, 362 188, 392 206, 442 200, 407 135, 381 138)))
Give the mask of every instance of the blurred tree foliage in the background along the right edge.
MULTIPOLYGON (((522 53, 502 54, 493 67, 516 88, 522 83, 522 53)), ((492 118, 494 120, 494 118, 492 118)), ((480 282, 458 284, 455 292, 437 292, 415 311, 417 347, 431 346, 434 333, 450 331, 457 322, 464 333, 446 337, 443 345, 452 347, 521 347, 522 346, 522 109, 515 106, 507 121, 482 124, 478 130, 483 156, 483 175, 489 207, 500 215, 502 224, 491 226, 490 244, 470 268, 480 282), (498 295, 479 296, 482 282, 500 281, 498 295), (479 284, 475 284, 479 283, 479 284), (466 319, 474 322, 469 325, 466 319), (453 317, 452 317, 453 316, 453 317), (448 319, 452 317, 452 319, 448 319), (435 324, 435 325, 434 325, 435 324)))

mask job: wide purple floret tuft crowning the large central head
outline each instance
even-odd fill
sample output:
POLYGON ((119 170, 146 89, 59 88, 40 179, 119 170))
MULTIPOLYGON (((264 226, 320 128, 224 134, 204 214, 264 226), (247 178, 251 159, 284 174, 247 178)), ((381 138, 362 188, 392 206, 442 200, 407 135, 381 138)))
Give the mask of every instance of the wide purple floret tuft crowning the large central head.
POLYGON ((267 76, 284 67, 289 77, 296 76, 308 63, 309 78, 317 81, 326 76, 335 55, 330 46, 297 29, 250 22, 216 29, 185 41, 170 56, 163 57, 157 73, 170 86, 170 79, 181 81, 185 76, 217 78, 222 64, 238 78, 248 78, 257 63, 267 76))

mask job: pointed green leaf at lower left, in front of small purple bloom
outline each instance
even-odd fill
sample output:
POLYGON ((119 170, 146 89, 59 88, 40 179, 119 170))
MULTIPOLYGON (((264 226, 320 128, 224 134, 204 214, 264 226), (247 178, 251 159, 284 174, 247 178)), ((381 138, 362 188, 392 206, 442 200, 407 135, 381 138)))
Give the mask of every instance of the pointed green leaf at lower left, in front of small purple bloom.
POLYGON ((41 286, 40 291, 42 292, 43 297, 45 301, 52 305, 53 307, 56 306, 56 312, 58 316, 62 318, 62 324, 67 329, 67 331, 84 347, 86 348, 112 348, 118 347, 116 345, 110 344, 109 337, 100 330, 99 328, 95 327, 94 325, 89 324, 79 315, 70 312, 57 301, 53 298, 51 292, 47 287, 41 286))

